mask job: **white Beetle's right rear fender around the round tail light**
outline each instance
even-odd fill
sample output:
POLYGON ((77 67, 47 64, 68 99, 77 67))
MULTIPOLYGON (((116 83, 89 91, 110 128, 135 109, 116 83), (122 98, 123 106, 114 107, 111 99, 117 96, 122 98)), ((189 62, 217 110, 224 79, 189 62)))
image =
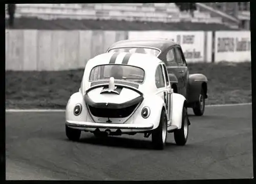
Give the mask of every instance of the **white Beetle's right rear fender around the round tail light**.
POLYGON ((165 106, 164 101, 159 96, 144 96, 144 100, 139 106, 139 108, 134 113, 134 122, 136 123, 148 123, 151 122, 154 124, 153 129, 157 128, 159 125, 160 117, 162 108, 165 106), (150 116, 146 119, 144 119, 141 116, 141 111, 143 107, 149 107, 150 108, 150 116))

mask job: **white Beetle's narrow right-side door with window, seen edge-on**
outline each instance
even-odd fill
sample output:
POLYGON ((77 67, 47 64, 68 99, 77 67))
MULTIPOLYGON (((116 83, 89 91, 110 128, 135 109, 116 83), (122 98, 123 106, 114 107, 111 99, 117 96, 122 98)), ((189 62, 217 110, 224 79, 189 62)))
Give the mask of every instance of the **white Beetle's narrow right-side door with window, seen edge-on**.
POLYGON ((167 115, 167 121, 170 120, 170 113, 171 113, 171 107, 172 107, 172 101, 171 101, 171 87, 170 87, 170 81, 167 73, 167 68, 164 64, 162 64, 162 71, 164 75, 164 83, 165 83, 165 93, 164 93, 164 101, 165 101, 165 108, 166 108, 166 115, 167 115))

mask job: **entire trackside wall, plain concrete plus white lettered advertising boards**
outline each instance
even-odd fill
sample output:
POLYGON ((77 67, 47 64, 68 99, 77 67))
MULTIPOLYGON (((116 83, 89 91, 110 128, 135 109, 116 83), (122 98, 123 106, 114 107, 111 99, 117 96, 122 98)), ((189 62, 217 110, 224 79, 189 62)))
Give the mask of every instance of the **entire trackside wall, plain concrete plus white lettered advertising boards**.
POLYGON ((6 30, 6 70, 60 71, 83 68, 123 39, 172 39, 190 62, 250 61, 250 31, 46 31, 6 30))

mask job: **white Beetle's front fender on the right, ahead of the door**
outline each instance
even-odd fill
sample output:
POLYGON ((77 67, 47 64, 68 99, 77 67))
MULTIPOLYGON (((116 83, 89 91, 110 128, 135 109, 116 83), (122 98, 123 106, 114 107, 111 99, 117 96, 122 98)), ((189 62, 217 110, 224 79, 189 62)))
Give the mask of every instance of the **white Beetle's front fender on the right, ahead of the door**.
POLYGON ((172 125, 176 125, 178 129, 180 129, 181 122, 182 122, 182 111, 183 111, 183 106, 186 99, 183 95, 176 94, 176 93, 172 93, 172 96, 173 96, 172 125))

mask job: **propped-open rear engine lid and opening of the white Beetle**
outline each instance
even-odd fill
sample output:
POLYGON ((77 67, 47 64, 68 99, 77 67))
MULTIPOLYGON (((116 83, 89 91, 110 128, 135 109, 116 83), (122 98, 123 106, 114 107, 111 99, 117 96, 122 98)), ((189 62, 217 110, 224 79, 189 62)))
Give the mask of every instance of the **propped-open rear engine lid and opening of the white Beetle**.
POLYGON ((84 95, 84 101, 93 120, 101 123, 124 123, 143 99, 143 94, 139 90, 115 85, 114 78, 110 78, 109 85, 93 86, 84 95))

